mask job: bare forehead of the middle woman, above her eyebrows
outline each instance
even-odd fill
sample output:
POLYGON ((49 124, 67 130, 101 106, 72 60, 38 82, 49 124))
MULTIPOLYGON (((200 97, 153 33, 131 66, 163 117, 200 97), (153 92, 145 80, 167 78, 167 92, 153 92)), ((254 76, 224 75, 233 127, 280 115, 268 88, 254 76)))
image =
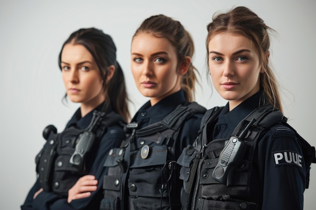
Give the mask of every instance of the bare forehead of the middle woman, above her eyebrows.
POLYGON ((137 51, 154 53, 164 51, 176 53, 176 48, 165 37, 156 37, 151 33, 139 33, 132 41, 132 53, 137 51))

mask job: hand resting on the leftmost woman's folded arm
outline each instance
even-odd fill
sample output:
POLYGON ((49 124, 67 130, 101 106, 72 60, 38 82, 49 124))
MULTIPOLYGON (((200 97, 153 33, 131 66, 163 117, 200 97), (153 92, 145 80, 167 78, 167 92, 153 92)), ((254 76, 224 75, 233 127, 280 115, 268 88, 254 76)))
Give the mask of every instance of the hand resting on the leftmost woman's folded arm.
POLYGON ((97 189, 97 180, 93 175, 85 175, 78 179, 76 184, 68 190, 68 199, 70 203, 72 200, 89 197, 91 192, 97 189))

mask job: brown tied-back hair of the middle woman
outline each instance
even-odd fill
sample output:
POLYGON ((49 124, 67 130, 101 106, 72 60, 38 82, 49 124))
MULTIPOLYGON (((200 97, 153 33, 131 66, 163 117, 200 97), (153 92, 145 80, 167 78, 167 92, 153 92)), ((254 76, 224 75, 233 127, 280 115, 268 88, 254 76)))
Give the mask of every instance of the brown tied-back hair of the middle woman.
MULTIPOLYGON (((190 34, 184 29, 179 21, 175 21, 165 15, 155 15, 147 18, 136 30, 133 37, 139 33, 151 33, 156 37, 164 37, 176 48, 178 63, 186 62, 185 57, 192 58, 194 44, 190 34)), ((188 102, 194 99, 196 68, 189 63, 188 71, 182 76, 181 89, 184 91, 188 102)))

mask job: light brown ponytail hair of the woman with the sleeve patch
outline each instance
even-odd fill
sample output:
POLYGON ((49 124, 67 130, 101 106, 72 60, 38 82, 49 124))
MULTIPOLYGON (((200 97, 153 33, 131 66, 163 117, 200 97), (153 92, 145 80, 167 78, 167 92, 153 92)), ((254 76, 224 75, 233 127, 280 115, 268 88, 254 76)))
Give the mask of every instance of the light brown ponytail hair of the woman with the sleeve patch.
POLYGON ((236 7, 228 13, 215 14, 213 22, 207 25, 207 61, 208 42, 216 34, 230 32, 247 37, 255 44, 259 52, 259 63, 264 68, 264 73, 260 74, 260 89, 264 91, 266 102, 282 111, 278 83, 269 65, 270 37, 268 31, 273 31, 255 13, 246 7, 236 7))

